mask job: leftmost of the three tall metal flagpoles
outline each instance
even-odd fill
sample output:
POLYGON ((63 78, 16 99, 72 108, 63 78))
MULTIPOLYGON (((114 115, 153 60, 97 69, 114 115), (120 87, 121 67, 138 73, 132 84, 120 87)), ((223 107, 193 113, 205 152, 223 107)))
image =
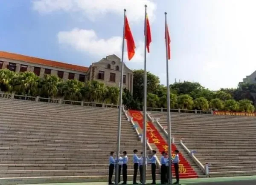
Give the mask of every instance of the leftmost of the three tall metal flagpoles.
POLYGON ((119 85, 119 110, 118 110, 118 127, 117 127, 117 141, 116 141, 116 173, 115 173, 115 184, 118 184, 119 176, 119 153, 120 153, 120 137, 121 137, 121 119, 122 119, 122 90, 123 90, 123 73, 124 73, 124 46, 125 46, 125 12, 124 9, 124 28, 123 28, 123 39, 122 39, 122 57, 121 57, 121 77, 119 85))

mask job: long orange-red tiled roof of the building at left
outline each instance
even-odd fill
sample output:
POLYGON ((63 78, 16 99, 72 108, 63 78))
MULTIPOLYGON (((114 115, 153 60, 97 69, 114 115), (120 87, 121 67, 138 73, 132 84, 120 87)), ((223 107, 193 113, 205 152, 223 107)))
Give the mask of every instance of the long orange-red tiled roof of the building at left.
POLYGON ((76 70, 76 71, 83 71, 83 72, 87 72, 88 69, 89 69, 89 68, 84 67, 84 66, 67 64, 67 63, 62 63, 62 62, 56 62, 56 61, 52 61, 52 60, 45 60, 45 59, 36 58, 36 57, 29 57, 29 56, 9 53, 9 52, 5 52, 5 51, 0 51, 0 57, 6 58, 6 59, 12 59, 12 60, 20 60, 20 61, 28 62, 28 63, 47 65, 47 66, 51 66, 51 67, 65 68, 65 69, 76 70))

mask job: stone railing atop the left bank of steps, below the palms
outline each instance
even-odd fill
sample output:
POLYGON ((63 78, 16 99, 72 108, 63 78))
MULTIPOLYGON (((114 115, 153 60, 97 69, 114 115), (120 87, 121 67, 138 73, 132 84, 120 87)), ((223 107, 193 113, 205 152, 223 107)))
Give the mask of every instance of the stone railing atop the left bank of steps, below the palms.
POLYGON ((107 104, 107 103, 96 103, 96 102, 84 102, 84 101, 73 101, 64 100, 62 98, 44 98, 44 97, 32 97, 17 94, 6 94, 0 93, 0 98, 12 99, 12 100, 26 100, 34 102, 46 102, 55 104, 65 104, 65 105, 81 105, 81 106, 91 106, 91 107, 102 107, 102 108, 119 108, 119 105, 107 104))

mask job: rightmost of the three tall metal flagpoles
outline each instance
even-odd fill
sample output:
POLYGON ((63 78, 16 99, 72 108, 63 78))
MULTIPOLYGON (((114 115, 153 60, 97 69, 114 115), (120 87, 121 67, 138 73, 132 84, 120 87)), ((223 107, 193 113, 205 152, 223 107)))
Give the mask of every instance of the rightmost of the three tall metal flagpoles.
POLYGON ((166 38, 166 85, 167 85, 167 126, 168 126, 168 154, 169 154, 169 184, 172 184, 172 139, 171 139, 171 111, 170 111, 170 87, 169 87, 169 66, 168 66, 168 30, 166 12, 165 14, 165 38, 166 38))

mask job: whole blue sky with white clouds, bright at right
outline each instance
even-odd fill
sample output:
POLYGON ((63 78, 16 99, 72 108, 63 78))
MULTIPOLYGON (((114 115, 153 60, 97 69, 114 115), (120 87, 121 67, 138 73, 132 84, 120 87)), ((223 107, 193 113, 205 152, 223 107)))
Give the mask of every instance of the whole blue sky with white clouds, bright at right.
POLYGON ((108 54, 119 57, 123 9, 137 46, 125 62, 143 68, 143 16, 148 5, 151 53, 147 70, 166 85, 164 11, 172 59, 170 83, 236 87, 256 70, 256 2, 253 0, 15 0, 0 1, 0 50, 89 66, 108 54))

